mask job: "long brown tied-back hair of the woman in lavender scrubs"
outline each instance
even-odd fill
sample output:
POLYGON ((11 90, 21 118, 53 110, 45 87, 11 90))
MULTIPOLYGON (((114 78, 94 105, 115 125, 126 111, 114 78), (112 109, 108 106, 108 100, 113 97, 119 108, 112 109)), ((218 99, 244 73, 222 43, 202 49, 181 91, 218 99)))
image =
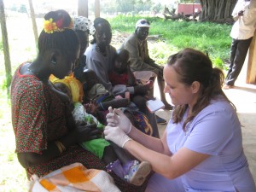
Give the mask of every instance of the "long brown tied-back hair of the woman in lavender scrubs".
MULTIPOLYGON (((230 102, 222 90, 224 73, 217 67, 213 68, 210 58, 201 51, 189 48, 183 49, 177 54, 171 55, 168 58, 167 65, 173 67, 178 75, 179 82, 191 85, 198 81, 201 84, 200 96, 192 108, 192 113, 185 120, 183 129, 216 96, 222 95, 225 100, 230 102)), ((234 104, 230 103, 235 108, 234 104)), ((174 123, 181 122, 187 108, 188 104, 176 106, 172 116, 174 123)))

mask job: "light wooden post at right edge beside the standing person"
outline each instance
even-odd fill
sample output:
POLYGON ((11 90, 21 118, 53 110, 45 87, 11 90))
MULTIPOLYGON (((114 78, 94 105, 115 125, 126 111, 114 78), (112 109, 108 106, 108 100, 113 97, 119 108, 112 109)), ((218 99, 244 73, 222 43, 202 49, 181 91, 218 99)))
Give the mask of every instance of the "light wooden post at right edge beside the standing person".
POLYGON ((247 84, 256 84, 256 31, 249 48, 246 82, 247 84))

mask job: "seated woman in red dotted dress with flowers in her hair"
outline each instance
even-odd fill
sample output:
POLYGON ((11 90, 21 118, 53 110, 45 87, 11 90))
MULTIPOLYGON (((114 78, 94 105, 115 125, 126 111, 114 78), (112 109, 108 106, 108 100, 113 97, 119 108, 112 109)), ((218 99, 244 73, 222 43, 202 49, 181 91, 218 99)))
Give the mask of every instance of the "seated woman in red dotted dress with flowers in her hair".
MULTIPOLYGON (((79 39, 64 10, 44 16, 44 30, 38 38, 38 57, 17 68, 11 84, 12 124, 16 149, 27 177, 42 177, 75 162, 87 168, 105 170, 105 164, 77 143, 101 134, 93 125, 67 125, 67 108, 49 82, 49 75, 63 79, 72 72, 79 57, 79 39), (60 145, 62 148, 59 148, 60 145)), ((71 113, 71 111, 69 111, 71 113)), ((144 191, 110 173, 121 191, 144 191)))

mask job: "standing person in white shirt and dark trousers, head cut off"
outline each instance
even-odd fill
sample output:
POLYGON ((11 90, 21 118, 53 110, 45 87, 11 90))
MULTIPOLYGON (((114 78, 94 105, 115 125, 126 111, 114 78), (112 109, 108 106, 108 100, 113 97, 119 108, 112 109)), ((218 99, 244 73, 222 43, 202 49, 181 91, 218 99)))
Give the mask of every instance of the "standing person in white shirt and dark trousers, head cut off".
POLYGON ((230 32, 232 44, 230 48, 230 67, 223 87, 225 90, 234 87, 241 72, 256 27, 255 14, 255 1, 250 3, 250 0, 238 0, 232 13, 236 22, 230 32))

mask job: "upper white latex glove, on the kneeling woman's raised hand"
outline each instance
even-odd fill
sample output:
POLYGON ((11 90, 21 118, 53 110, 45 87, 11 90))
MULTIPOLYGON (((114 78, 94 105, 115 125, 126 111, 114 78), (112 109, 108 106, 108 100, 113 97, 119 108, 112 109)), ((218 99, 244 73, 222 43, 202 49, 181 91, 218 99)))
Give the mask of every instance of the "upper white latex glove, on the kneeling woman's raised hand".
POLYGON ((109 113, 106 116, 108 126, 119 126, 126 134, 129 134, 131 132, 131 121, 125 116, 125 113, 112 107, 109 107, 108 111, 109 113))

